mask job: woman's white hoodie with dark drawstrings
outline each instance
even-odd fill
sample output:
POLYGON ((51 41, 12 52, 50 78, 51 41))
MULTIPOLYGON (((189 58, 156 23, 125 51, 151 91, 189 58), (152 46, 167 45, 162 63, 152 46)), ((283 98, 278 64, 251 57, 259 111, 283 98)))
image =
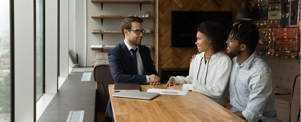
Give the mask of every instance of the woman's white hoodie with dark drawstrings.
POLYGON ((225 52, 220 51, 211 56, 205 64, 204 54, 202 52, 196 55, 190 63, 189 75, 187 77, 174 77, 175 83, 183 84, 183 90, 185 91, 200 92, 219 105, 224 106, 227 104, 225 98, 229 94, 228 81, 232 61, 225 52))

